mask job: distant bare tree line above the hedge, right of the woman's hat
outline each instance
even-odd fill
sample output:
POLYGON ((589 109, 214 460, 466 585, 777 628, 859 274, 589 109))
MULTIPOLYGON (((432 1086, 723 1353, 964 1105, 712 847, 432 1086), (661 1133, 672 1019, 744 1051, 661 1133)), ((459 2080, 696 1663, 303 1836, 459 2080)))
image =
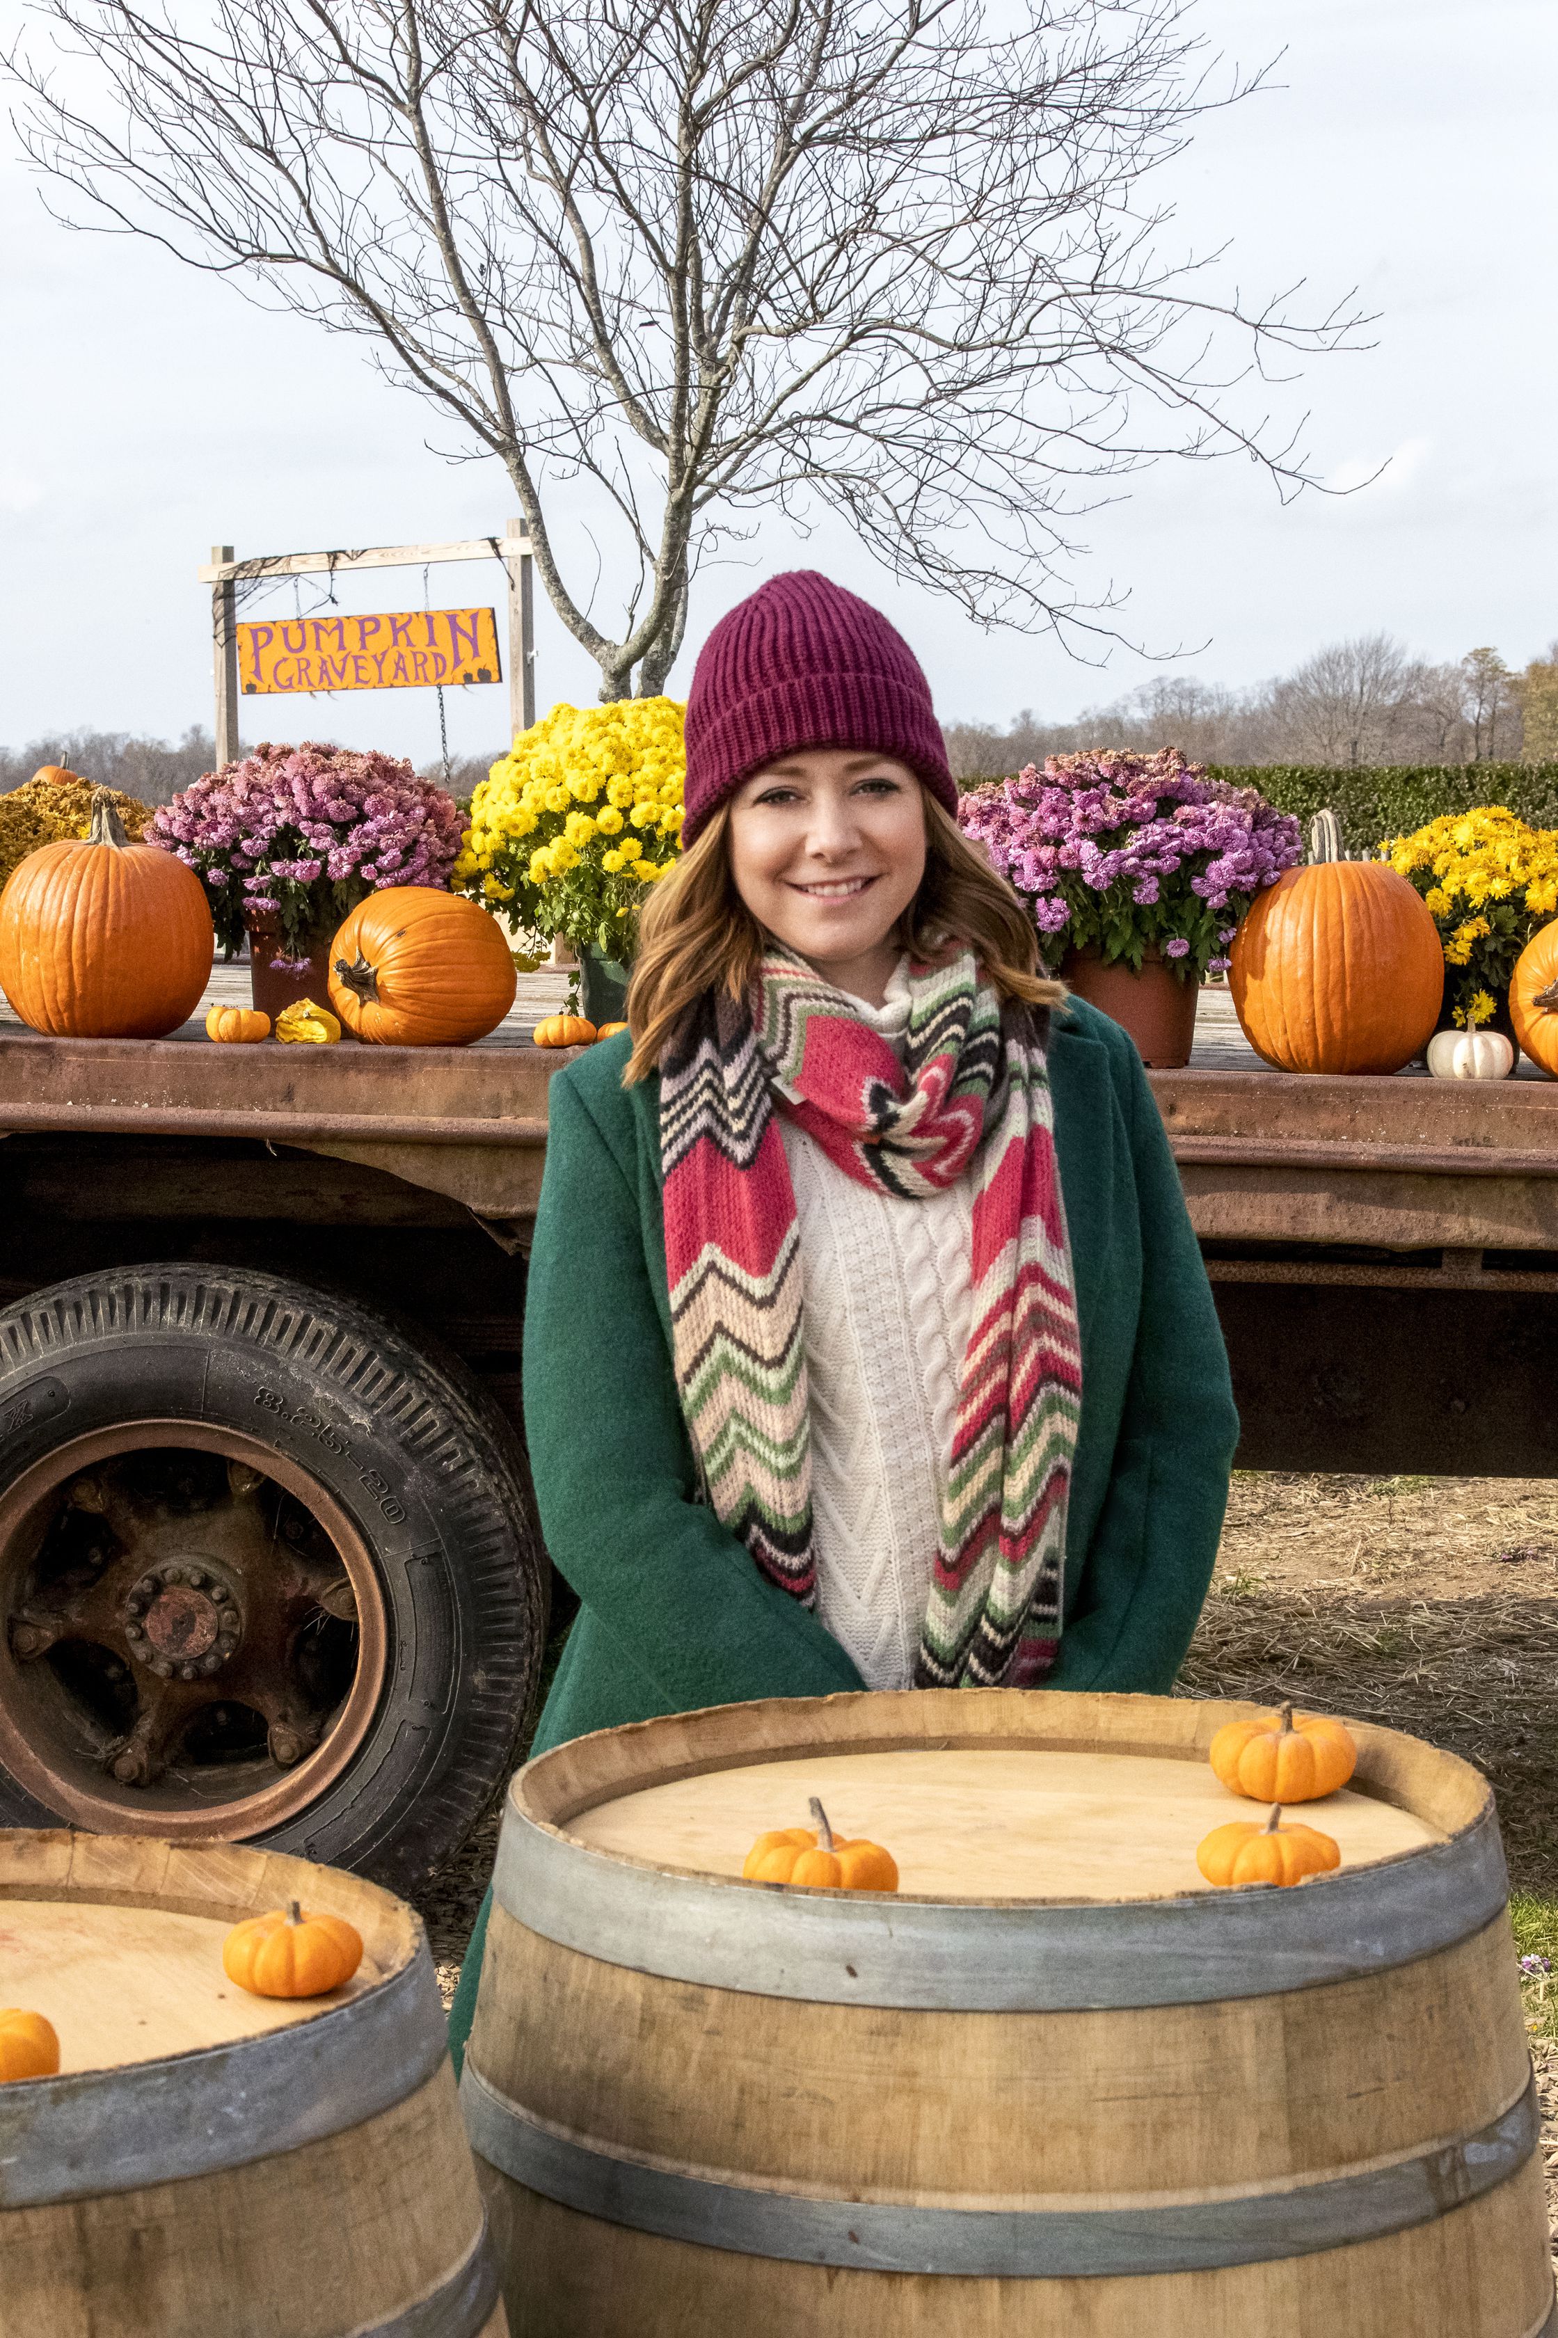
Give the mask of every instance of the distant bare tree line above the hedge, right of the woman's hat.
POLYGON ((1514 673, 1490 648, 1434 664, 1390 634, 1359 634, 1249 690, 1163 676, 1071 722, 1022 713, 1006 729, 952 722, 945 736, 959 779, 1004 779, 1095 746, 1177 746, 1240 769, 1553 762, 1558 643, 1514 673))

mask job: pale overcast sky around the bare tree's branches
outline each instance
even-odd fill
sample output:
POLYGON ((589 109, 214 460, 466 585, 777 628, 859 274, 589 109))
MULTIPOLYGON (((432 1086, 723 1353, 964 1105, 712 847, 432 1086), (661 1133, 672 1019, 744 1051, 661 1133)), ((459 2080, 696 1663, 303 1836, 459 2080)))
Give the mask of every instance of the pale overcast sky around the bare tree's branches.
MULTIPOLYGON (((9 12, 7 12, 9 14, 9 12)), ((1298 388, 1315 468, 1352 496, 1280 507, 1247 463, 1160 465, 1090 526, 1090 589, 1179 671, 1247 683, 1354 631, 1511 664, 1558 634, 1558 234, 1551 0, 1205 0, 1200 23, 1275 84, 1205 122, 1165 192, 1191 241, 1233 238, 1249 295, 1303 276, 1350 288, 1373 348, 1312 360, 1298 388)), ((501 531, 494 463, 449 465, 426 416, 358 344, 250 309, 150 243, 66 234, 0 166, 0 743, 94 725, 178 734, 211 720, 208 601, 194 568, 241 554, 501 531)), ((1296 402, 1296 404, 1294 404, 1296 402)), ((819 566, 877 599, 924 659, 943 720, 1064 718, 1156 671, 1083 666, 1050 641, 983 634, 891 584, 837 524, 763 528, 744 568, 699 580, 685 694, 711 620, 765 573, 819 566)), ((491 570, 433 570, 433 606, 491 601, 491 570)), ((421 573, 342 580, 344 608, 421 606, 421 573)), ((264 615, 269 610, 255 610, 264 615)), ((590 701, 594 669, 538 608, 540 706, 590 701)), ((274 734, 423 758, 433 692, 271 701, 274 734)), ((257 736, 246 706, 246 736, 257 736)), ((269 708, 267 708, 269 711, 269 708)), ((501 746, 505 694, 449 694, 456 750, 501 746)))

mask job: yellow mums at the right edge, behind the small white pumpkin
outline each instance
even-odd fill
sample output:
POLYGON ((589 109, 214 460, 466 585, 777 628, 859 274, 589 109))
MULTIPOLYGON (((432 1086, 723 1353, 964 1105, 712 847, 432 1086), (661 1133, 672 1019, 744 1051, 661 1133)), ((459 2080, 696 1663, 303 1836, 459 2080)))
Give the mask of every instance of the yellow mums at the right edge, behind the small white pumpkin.
POLYGON ((1453 1019, 1460 1029, 1507 1024, 1514 963, 1558 912, 1558 828, 1528 828, 1502 804, 1481 804, 1392 837, 1380 853, 1439 926, 1453 1019))

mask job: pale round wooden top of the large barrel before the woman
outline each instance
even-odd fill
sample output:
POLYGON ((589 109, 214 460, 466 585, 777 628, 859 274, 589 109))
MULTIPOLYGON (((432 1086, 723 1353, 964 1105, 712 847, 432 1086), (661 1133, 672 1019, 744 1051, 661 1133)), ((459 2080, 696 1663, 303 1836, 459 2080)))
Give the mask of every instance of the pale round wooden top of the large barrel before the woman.
MULTIPOLYGON (((1195 1845, 1266 1803, 1228 1793, 1205 1763, 1151 1754, 964 1746, 819 1754, 709 1770, 599 1803, 568 1833, 599 1852, 699 1875, 739 1875, 756 1835, 807 1826, 821 1796, 840 1835, 870 1835, 915 1898, 1158 1898, 1209 1891, 1195 1845)), ((1340 1845, 1345 1866, 1441 1842, 1373 1796, 1294 1805, 1340 1845)))

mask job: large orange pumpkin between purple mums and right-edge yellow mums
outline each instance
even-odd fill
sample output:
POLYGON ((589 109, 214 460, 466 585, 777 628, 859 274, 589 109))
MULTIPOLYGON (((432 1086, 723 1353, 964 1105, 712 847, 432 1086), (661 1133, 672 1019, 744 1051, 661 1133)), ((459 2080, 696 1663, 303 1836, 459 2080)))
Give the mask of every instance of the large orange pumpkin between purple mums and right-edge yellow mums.
POLYGON ((1385 860, 1319 860, 1256 893, 1228 989, 1277 1071, 1401 1071, 1439 1022, 1443 947, 1385 860))

